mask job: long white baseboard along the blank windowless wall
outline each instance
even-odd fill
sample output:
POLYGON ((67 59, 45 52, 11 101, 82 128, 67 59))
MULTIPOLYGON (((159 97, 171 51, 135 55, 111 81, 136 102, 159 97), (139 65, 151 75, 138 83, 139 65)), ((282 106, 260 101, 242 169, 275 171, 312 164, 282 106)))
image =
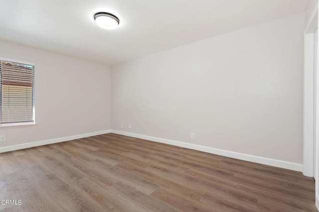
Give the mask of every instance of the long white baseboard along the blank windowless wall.
POLYGON ((292 163, 292 162, 288 162, 288 161, 276 160, 276 159, 271 159, 271 158, 264 158, 264 157, 259 157, 259 156, 255 156, 255 155, 248 155, 248 154, 243 154, 243 153, 239 153, 239 152, 232 152, 232 151, 227 151, 227 150, 223 150, 223 149, 216 149, 216 148, 212 148, 212 147, 208 147, 208 146, 201 146, 201 145, 197 145, 197 144, 168 140, 168 139, 164 139, 164 138, 152 137, 152 136, 148 136, 148 135, 135 134, 135 133, 131 133, 131 132, 124 132, 124 131, 118 131, 118 130, 113 130, 113 129, 111 130, 111 132, 115 133, 115 134, 126 135, 126 136, 135 137, 135 138, 142 138, 142 139, 151 140, 151 141, 160 142, 160 143, 166 143, 166 144, 170 144, 170 145, 174 145, 174 146, 185 147, 188 149, 195 149, 195 150, 199 150, 202 152, 208 152, 208 153, 222 155, 222 156, 226 156, 226 157, 230 157, 230 158, 265 164, 265 165, 269 165, 269 166, 275 166, 275 167, 290 169, 290 170, 299 171, 299 172, 303 171, 303 165, 298 164, 298 163, 292 163))

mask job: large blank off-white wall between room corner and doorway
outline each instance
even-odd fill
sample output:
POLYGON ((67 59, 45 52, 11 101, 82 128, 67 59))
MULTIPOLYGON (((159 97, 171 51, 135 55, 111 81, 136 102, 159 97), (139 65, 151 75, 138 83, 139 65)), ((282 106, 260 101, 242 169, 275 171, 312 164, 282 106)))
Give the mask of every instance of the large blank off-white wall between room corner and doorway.
POLYGON ((112 129, 302 164, 304 17, 111 67, 112 129))

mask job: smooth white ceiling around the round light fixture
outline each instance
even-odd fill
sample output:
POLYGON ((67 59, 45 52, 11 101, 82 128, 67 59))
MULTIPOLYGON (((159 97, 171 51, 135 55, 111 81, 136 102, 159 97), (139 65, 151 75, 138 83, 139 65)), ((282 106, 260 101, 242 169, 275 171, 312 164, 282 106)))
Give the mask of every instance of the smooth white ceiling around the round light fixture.
POLYGON ((0 39, 108 65, 305 11, 308 0, 0 0, 0 39), (105 11, 115 30, 93 19, 105 11))

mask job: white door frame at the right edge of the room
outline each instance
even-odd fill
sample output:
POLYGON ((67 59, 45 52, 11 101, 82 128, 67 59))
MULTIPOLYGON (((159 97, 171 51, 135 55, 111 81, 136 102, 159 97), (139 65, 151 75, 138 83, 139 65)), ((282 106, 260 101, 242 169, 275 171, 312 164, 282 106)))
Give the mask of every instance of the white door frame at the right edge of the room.
MULTIPOLYGON (((314 38, 315 31, 318 29, 318 3, 310 17, 304 34, 304 158, 303 174, 314 177, 314 158, 316 163, 316 206, 319 208, 319 127, 314 130, 314 120, 319 124, 319 72, 317 79, 314 79, 314 38), (317 82, 317 88, 314 88, 314 80, 317 82), (314 91, 317 91, 316 99, 314 91), (317 108, 314 108, 315 102, 317 108), (316 109, 317 117, 314 117, 316 109), (316 118, 316 119, 315 119, 316 118), (314 139, 315 138, 315 139, 314 139), (314 141, 316 142, 316 151, 314 155, 314 141)), ((317 56, 318 57, 318 56, 317 56)), ((317 67, 319 68, 317 58, 317 67)))

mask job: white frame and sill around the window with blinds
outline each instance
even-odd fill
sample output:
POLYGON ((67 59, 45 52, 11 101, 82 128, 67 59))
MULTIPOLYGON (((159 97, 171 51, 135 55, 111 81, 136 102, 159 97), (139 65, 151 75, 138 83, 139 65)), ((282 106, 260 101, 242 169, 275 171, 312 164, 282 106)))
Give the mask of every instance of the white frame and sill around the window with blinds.
MULTIPOLYGON (((14 60, 14 59, 9 59, 9 58, 4 58, 0 57, 0 60, 12 62, 12 63, 21 63, 25 65, 30 65, 33 66, 33 81, 32 81, 32 115, 33 115, 33 121, 30 122, 18 122, 18 123, 0 123, 0 128, 15 128, 15 127, 26 127, 26 126, 35 126, 37 125, 35 122, 35 65, 34 63, 31 62, 25 62, 25 61, 20 61, 20 60, 14 60)), ((0 83, 0 89, 1 89, 2 84, 0 83)), ((1 95, 2 93, 0 92, 0 101, 1 101, 1 95)), ((1 102, 0 102, 1 106, 1 102)))

